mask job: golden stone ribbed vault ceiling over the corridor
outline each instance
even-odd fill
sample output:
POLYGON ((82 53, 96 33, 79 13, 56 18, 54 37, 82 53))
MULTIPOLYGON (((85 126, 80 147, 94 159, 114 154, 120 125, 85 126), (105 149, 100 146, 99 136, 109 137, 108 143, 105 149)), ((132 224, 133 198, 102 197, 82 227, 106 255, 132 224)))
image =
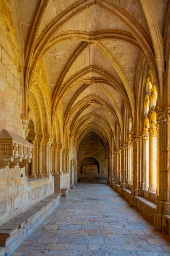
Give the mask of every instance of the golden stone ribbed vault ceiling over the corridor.
MULTIPOLYGON (((162 27, 158 1, 151 2, 162 27)), ((37 4, 18 0, 26 42, 37 4)), ((140 58, 156 67, 140 0, 43 0, 32 54, 33 70, 40 59, 47 61, 52 117, 62 110, 63 136, 68 129, 74 143, 90 132, 111 142, 117 125, 122 132, 123 109, 132 120, 136 112, 140 58)))

